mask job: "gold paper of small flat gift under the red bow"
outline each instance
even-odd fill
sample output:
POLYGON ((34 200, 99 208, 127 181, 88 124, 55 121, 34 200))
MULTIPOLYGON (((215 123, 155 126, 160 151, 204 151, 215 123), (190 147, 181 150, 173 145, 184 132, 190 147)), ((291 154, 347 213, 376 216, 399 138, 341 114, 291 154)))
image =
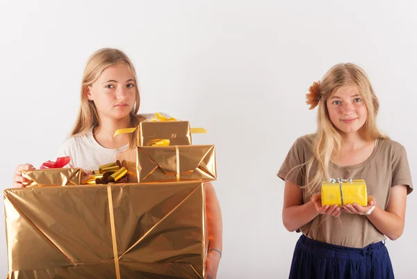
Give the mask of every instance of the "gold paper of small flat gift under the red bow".
POLYGON ((81 168, 44 168, 42 170, 22 170, 22 177, 31 186, 70 186, 81 184, 81 168))

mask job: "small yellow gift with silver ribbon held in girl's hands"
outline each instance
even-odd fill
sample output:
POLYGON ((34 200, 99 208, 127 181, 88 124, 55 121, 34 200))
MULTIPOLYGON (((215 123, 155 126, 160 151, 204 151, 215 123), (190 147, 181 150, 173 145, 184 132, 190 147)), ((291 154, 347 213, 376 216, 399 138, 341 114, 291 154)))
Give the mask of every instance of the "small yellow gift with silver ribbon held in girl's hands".
POLYGON ((368 205, 365 180, 332 180, 322 182, 322 206, 343 205, 356 202, 358 205, 368 205), (343 202, 342 202, 343 199, 343 202))

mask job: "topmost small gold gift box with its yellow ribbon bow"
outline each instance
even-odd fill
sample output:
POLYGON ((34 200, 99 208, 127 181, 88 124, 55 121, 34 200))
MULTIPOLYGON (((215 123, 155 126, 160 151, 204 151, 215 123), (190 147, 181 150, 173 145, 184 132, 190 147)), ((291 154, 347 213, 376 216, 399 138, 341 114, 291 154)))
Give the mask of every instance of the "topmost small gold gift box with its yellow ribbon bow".
POLYGON ((206 134, 204 128, 191 128, 190 122, 166 118, 156 113, 156 117, 140 122, 136 128, 119 129, 114 136, 133 133, 138 129, 138 146, 159 145, 163 140, 167 145, 191 145, 191 134, 206 134))

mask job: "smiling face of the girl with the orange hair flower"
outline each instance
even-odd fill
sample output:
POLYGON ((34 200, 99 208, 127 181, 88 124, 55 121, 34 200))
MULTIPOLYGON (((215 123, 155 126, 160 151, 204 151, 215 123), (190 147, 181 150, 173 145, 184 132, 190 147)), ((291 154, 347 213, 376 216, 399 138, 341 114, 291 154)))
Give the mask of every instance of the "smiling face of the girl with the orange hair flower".
POLYGON ((368 118, 368 109, 356 86, 343 86, 326 101, 330 121, 342 133, 357 133, 368 118))

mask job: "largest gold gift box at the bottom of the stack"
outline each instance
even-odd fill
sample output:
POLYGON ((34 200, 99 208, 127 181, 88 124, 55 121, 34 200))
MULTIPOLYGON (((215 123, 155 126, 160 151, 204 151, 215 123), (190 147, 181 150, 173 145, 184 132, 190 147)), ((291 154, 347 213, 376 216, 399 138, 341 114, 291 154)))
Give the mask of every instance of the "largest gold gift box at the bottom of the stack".
POLYGON ((204 278, 203 182, 3 191, 8 277, 204 278))

